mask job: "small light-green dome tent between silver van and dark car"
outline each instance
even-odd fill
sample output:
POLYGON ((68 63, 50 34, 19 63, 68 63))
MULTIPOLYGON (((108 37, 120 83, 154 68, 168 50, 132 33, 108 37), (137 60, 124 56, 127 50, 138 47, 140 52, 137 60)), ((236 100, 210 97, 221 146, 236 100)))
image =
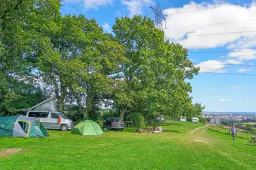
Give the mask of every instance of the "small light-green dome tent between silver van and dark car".
POLYGON ((92 120, 84 120, 75 126, 72 133, 83 136, 99 136, 103 134, 103 131, 98 123, 92 120))

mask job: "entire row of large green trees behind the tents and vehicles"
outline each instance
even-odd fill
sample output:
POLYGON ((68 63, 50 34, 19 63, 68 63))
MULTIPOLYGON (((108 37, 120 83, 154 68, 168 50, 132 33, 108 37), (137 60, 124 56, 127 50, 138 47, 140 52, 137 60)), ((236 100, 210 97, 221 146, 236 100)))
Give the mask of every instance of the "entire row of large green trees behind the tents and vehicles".
POLYGON ((58 0, 1 2, 0 112, 55 96, 59 112, 75 104, 84 118, 96 119, 102 106, 122 119, 201 114, 187 82, 199 68, 150 18, 116 18, 106 33, 94 19, 61 15, 60 7, 58 0))

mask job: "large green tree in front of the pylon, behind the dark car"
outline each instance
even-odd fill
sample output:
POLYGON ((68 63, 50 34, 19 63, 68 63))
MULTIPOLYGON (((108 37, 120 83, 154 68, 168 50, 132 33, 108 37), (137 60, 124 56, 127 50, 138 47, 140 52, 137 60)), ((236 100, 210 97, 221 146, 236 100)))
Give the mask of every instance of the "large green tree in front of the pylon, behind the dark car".
POLYGON ((187 58, 187 50, 164 41, 164 33, 146 17, 117 18, 113 32, 125 45, 127 58, 116 77, 113 98, 119 116, 134 111, 146 118, 189 114, 193 108, 189 96, 192 88, 185 79, 192 79, 199 68, 187 58))

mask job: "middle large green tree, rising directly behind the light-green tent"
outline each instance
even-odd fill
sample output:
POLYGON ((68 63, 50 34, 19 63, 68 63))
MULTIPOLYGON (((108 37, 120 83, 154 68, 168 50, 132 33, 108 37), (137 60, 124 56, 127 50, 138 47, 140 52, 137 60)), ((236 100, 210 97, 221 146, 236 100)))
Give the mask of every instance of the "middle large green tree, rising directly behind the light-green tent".
POLYGON ((58 110, 63 112, 67 95, 72 95, 88 117, 95 95, 111 90, 113 79, 108 75, 119 70, 123 46, 105 34, 96 20, 83 15, 58 16, 42 34, 35 66, 43 81, 53 87, 58 110))

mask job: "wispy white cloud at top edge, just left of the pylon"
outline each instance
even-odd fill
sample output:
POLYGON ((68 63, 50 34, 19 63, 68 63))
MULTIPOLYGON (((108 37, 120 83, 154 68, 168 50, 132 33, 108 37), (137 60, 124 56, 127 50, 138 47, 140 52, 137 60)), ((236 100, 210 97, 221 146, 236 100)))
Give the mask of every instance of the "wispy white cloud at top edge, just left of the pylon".
POLYGON ((153 5, 152 0, 121 0, 122 5, 127 6, 127 10, 130 11, 130 16, 142 14, 143 7, 153 5))

